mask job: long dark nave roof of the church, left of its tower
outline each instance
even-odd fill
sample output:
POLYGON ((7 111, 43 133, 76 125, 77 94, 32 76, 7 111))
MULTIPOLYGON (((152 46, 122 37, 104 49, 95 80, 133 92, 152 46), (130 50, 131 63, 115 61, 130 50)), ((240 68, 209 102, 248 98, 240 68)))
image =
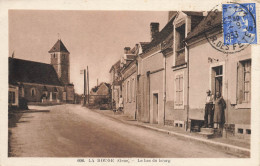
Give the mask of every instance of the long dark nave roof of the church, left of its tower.
POLYGON ((52 65, 9 57, 9 84, 17 82, 61 86, 52 65))

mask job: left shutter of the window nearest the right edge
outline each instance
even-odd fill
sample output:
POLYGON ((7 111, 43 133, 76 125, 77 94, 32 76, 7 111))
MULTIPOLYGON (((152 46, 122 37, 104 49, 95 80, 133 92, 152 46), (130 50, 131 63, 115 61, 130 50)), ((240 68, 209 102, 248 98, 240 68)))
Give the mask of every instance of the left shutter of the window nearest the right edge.
POLYGON ((237 103, 241 104, 243 101, 243 65, 242 63, 237 63, 237 103))

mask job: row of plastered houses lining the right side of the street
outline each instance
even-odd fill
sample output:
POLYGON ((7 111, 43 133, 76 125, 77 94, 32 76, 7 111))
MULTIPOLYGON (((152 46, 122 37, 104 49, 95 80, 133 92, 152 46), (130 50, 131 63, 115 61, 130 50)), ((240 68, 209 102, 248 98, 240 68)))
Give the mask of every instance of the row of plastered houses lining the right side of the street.
POLYGON ((206 91, 221 92, 224 132, 251 134, 251 47, 233 54, 212 47, 205 37, 223 40, 221 14, 169 12, 168 23, 150 24, 151 41, 125 47, 110 69, 112 100, 123 97, 124 114, 141 122, 191 131, 204 119, 206 91), (211 19, 211 28, 205 28, 211 19))

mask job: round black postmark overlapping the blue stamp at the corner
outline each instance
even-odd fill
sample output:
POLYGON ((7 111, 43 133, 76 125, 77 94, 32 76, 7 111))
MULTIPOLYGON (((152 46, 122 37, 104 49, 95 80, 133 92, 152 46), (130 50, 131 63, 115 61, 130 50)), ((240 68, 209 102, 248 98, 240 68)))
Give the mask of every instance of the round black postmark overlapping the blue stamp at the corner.
POLYGON ((203 26, 210 45, 223 53, 240 52, 256 42, 255 17, 243 4, 215 6, 208 12, 203 26))

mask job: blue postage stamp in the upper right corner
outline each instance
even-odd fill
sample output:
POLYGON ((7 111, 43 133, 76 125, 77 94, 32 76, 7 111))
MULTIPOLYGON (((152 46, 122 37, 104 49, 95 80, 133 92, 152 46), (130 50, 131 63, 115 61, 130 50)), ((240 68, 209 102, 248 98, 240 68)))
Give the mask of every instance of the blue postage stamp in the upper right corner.
POLYGON ((255 3, 222 5, 224 44, 256 44, 255 3))

